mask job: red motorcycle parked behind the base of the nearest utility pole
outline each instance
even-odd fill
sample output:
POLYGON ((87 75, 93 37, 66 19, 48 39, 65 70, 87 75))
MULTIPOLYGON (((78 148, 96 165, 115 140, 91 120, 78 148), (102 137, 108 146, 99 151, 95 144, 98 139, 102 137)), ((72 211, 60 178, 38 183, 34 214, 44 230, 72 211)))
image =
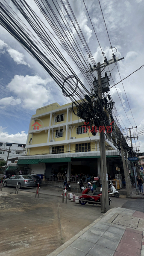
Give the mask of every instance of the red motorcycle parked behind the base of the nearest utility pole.
MULTIPOLYGON (((90 187, 88 187, 88 188, 86 187, 86 188, 84 188, 84 189, 82 190, 82 194, 84 194, 84 195, 82 195, 81 197, 79 197, 79 203, 80 203, 81 205, 85 205, 86 203, 89 203, 89 204, 98 204, 98 203, 100 203, 100 197, 97 197, 97 196, 102 195, 102 189, 101 189, 100 192, 94 192, 93 195, 88 194, 88 192, 89 192, 90 190, 91 190, 90 187), (85 202, 85 200, 86 200, 86 201, 89 201, 89 202, 85 202)), ((111 199, 110 199, 110 197, 109 197, 109 205, 110 205, 110 202, 112 203, 112 201, 111 201, 111 199)))

